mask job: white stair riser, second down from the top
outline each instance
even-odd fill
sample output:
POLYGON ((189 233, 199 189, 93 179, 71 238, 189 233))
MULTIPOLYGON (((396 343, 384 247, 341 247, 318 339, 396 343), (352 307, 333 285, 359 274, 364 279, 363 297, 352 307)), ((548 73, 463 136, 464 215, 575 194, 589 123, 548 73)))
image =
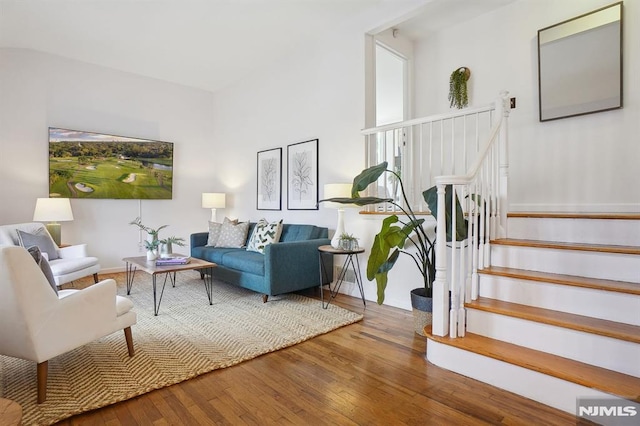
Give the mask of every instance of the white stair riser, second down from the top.
POLYGON ((492 244, 492 266, 640 283, 640 256, 492 244))

